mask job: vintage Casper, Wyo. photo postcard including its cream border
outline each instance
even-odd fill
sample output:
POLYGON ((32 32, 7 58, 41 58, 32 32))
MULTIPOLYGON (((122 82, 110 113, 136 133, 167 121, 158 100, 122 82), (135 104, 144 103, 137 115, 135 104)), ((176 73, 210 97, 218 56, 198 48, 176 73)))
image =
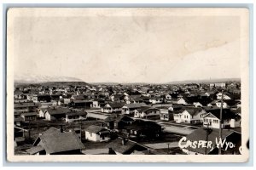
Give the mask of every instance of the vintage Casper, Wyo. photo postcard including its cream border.
POLYGON ((248 160, 247 8, 7 17, 9 161, 248 160))

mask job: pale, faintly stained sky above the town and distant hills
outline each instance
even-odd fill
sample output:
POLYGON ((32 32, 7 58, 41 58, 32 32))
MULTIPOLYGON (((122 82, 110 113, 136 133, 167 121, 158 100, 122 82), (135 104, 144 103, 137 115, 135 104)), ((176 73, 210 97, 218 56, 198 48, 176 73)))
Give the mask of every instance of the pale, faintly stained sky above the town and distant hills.
POLYGON ((14 20, 15 77, 155 83, 238 78, 240 31, 240 18, 231 15, 20 14, 14 20))

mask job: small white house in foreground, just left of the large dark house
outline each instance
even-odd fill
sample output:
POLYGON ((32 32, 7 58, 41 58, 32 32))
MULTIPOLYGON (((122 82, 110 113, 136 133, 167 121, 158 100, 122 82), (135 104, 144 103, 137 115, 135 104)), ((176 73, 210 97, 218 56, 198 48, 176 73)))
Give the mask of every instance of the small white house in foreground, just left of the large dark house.
POLYGON ((110 139, 109 131, 103 127, 91 125, 85 129, 85 139, 94 142, 108 141, 110 139))

